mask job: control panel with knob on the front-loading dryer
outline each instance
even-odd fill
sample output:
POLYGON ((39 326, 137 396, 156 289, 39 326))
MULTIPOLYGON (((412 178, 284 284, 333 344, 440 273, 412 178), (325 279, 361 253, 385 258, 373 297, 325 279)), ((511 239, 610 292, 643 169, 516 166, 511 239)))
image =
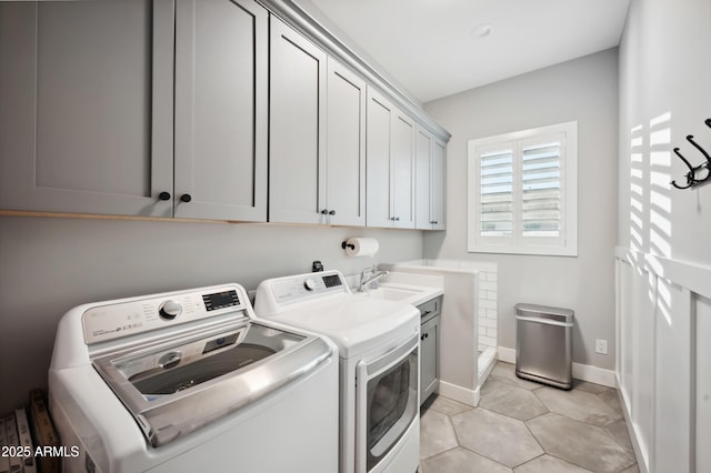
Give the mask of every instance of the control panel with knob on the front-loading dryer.
POLYGON ((271 290, 278 304, 289 304, 336 292, 350 292, 339 272, 318 272, 276 279, 271 281, 271 290))

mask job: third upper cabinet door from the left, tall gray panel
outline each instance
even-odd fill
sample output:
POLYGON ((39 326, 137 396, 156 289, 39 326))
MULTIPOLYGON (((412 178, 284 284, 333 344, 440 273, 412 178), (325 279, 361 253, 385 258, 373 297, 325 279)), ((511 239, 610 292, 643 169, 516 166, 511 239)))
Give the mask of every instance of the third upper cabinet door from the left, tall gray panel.
POLYGON ((269 47, 269 221, 324 223, 327 56, 274 17, 269 47))

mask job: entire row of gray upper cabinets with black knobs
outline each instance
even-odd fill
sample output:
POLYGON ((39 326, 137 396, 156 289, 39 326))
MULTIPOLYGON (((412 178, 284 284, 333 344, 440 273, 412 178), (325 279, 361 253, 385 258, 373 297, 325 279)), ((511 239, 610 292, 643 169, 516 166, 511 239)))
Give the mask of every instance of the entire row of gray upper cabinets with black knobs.
POLYGON ((289 24, 256 0, 0 2, 0 210, 443 228, 421 113, 289 24))

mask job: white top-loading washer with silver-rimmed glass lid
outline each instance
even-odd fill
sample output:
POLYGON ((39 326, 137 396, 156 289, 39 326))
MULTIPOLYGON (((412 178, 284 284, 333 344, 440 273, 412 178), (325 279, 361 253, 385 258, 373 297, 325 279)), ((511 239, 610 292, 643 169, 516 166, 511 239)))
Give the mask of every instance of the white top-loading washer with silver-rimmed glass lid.
POLYGON ((64 471, 333 473, 338 370, 333 342, 256 321, 239 284, 74 308, 49 371, 80 451, 64 471))

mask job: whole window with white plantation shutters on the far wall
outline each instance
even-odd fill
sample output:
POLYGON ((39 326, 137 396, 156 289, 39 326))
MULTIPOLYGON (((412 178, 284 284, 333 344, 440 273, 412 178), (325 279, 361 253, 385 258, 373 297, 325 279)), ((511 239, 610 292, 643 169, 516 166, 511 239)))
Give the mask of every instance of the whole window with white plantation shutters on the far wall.
POLYGON ((469 251, 577 255, 577 122, 469 142, 469 251))

